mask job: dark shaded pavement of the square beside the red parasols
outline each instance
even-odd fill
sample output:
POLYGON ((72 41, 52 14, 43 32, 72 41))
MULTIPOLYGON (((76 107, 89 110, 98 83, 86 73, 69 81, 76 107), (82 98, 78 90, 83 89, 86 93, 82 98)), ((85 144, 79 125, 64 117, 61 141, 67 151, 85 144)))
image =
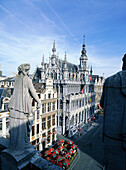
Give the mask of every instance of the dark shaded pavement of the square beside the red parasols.
POLYGON ((68 138, 58 135, 58 139, 72 140, 80 150, 80 157, 72 170, 101 170, 103 169, 103 142, 102 142, 102 123, 103 116, 99 116, 97 123, 88 123, 83 126, 80 132, 68 138))

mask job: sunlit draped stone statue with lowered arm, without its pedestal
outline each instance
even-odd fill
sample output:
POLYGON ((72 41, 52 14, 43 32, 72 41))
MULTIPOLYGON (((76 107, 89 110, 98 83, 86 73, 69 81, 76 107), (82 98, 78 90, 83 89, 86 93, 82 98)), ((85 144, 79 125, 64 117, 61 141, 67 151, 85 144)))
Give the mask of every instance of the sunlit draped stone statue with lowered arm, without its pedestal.
POLYGON ((32 80, 28 77, 30 64, 21 64, 18 67, 13 95, 9 103, 10 141, 11 152, 23 153, 30 146, 30 130, 32 128, 33 112, 32 98, 39 108, 41 103, 33 87, 32 80))

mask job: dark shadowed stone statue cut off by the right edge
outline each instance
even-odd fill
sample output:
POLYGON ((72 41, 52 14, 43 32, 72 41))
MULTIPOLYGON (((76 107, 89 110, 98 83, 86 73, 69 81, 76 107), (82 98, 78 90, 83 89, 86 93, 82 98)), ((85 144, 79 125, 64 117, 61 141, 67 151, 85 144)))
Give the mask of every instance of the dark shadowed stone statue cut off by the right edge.
POLYGON ((126 168, 126 54, 122 71, 108 77, 100 102, 104 111, 103 141, 107 170, 126 168))

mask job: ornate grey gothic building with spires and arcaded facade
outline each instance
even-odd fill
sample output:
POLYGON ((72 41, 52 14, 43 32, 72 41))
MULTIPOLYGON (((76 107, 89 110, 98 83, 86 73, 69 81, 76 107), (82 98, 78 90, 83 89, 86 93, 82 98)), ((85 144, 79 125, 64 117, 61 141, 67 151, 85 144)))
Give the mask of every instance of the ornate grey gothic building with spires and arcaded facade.
POLYGON ((94 83, 92 71, 88 67, 85 44, 82 45, 80 64, 72 64, 56 55, 55 41, 49 63, 42 57, 41 67, 36 67, 33 82, 42 83, 50 75, 54 89, 57 91, 57 131, 72 136, 88 121, 95 109, 94 83))

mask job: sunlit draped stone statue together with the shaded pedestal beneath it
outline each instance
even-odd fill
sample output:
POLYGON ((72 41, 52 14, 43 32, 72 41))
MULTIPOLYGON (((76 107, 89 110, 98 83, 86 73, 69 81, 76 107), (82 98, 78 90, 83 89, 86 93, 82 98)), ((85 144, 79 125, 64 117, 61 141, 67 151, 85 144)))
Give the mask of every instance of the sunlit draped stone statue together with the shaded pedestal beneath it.
POLYGON ((30 130, 33 122, 32 98, 38 103, 38 107, 41 104, 28 77, 29 69, 29 64, 21 64, 18 67, 18 75, 8 107, 10 139, 7 149, 2 151, 2 170, 22 169, 36 154, 35 148, 30 145, 30 130))

